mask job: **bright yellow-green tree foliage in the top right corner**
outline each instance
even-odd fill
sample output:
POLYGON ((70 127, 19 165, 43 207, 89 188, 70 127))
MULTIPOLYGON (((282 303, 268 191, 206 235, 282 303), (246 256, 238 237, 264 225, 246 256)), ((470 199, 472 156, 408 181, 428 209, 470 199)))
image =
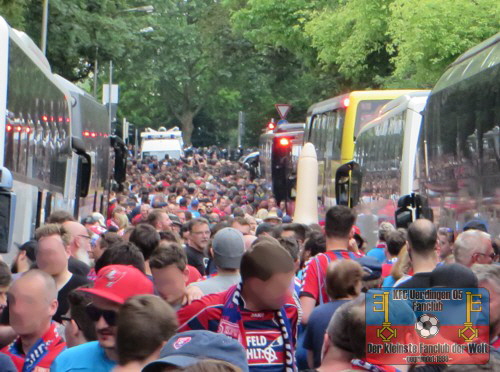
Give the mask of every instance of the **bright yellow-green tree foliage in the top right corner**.
POLYGON ((390 6, 388 50, 394 74, 388 84, 410 80, 432 87, 446 66, 500 26, 495 0, 396 0, 390 6))

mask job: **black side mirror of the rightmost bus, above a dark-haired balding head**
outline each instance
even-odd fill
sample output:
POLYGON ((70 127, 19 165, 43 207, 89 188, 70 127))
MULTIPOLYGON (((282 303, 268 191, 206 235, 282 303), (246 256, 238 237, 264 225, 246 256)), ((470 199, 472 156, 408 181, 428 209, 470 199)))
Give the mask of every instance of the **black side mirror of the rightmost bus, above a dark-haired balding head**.
POLYGON ((398 209, 395 213, 396 227, 407 229, 410 224, 420 218, 432 221, 434 213, 429 208, 427 198, 411 193, 398 200, 398 209))

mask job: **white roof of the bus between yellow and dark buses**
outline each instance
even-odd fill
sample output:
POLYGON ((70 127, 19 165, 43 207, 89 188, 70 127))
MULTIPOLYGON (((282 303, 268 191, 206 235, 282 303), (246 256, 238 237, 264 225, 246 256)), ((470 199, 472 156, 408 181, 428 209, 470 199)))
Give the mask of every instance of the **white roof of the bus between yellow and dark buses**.
POLYGON ((372 121, 368 122, 359 132, 359 136, 361 136, 364 132, 373 129, 377 125, 383 123, 388 118, 393 117, 407 109, 411 109, 415 112, 422 112, 425 108, 425 104, 427 102, 427 98, 430 94, 430 91, 424 92, 415 92, 410 94, 405 94, 401 97, 393 99, 391 102, 387 103, 380 110, 379 116, 372 121))

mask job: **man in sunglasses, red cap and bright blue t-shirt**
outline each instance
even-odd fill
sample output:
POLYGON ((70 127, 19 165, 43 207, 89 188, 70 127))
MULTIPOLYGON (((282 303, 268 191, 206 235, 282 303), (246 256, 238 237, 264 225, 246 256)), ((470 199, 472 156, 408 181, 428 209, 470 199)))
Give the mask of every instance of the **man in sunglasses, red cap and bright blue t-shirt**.
POLYGON ((86 311, 94 322, 97 341, 75 346, 61 353, 51 372, 108 372, 116 366, 116 319, 125 301, 133 296, 153 294, 152 282, 132 266, 110 265, 99 270, 93 288, 79 291, 90 295, 86 311))

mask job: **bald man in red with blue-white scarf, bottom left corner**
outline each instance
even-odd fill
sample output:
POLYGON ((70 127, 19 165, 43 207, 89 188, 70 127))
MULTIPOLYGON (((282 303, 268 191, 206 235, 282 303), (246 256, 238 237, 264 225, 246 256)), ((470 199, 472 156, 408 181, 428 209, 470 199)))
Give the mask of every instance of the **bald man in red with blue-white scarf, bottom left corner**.
POLYGON ((10 287, 10 325, 18 337, 2 352, 19 371, 50 368, 66 348, 52 316, 57 310, 57 288, 54 279, 41 270, 30 270, 10 287))

